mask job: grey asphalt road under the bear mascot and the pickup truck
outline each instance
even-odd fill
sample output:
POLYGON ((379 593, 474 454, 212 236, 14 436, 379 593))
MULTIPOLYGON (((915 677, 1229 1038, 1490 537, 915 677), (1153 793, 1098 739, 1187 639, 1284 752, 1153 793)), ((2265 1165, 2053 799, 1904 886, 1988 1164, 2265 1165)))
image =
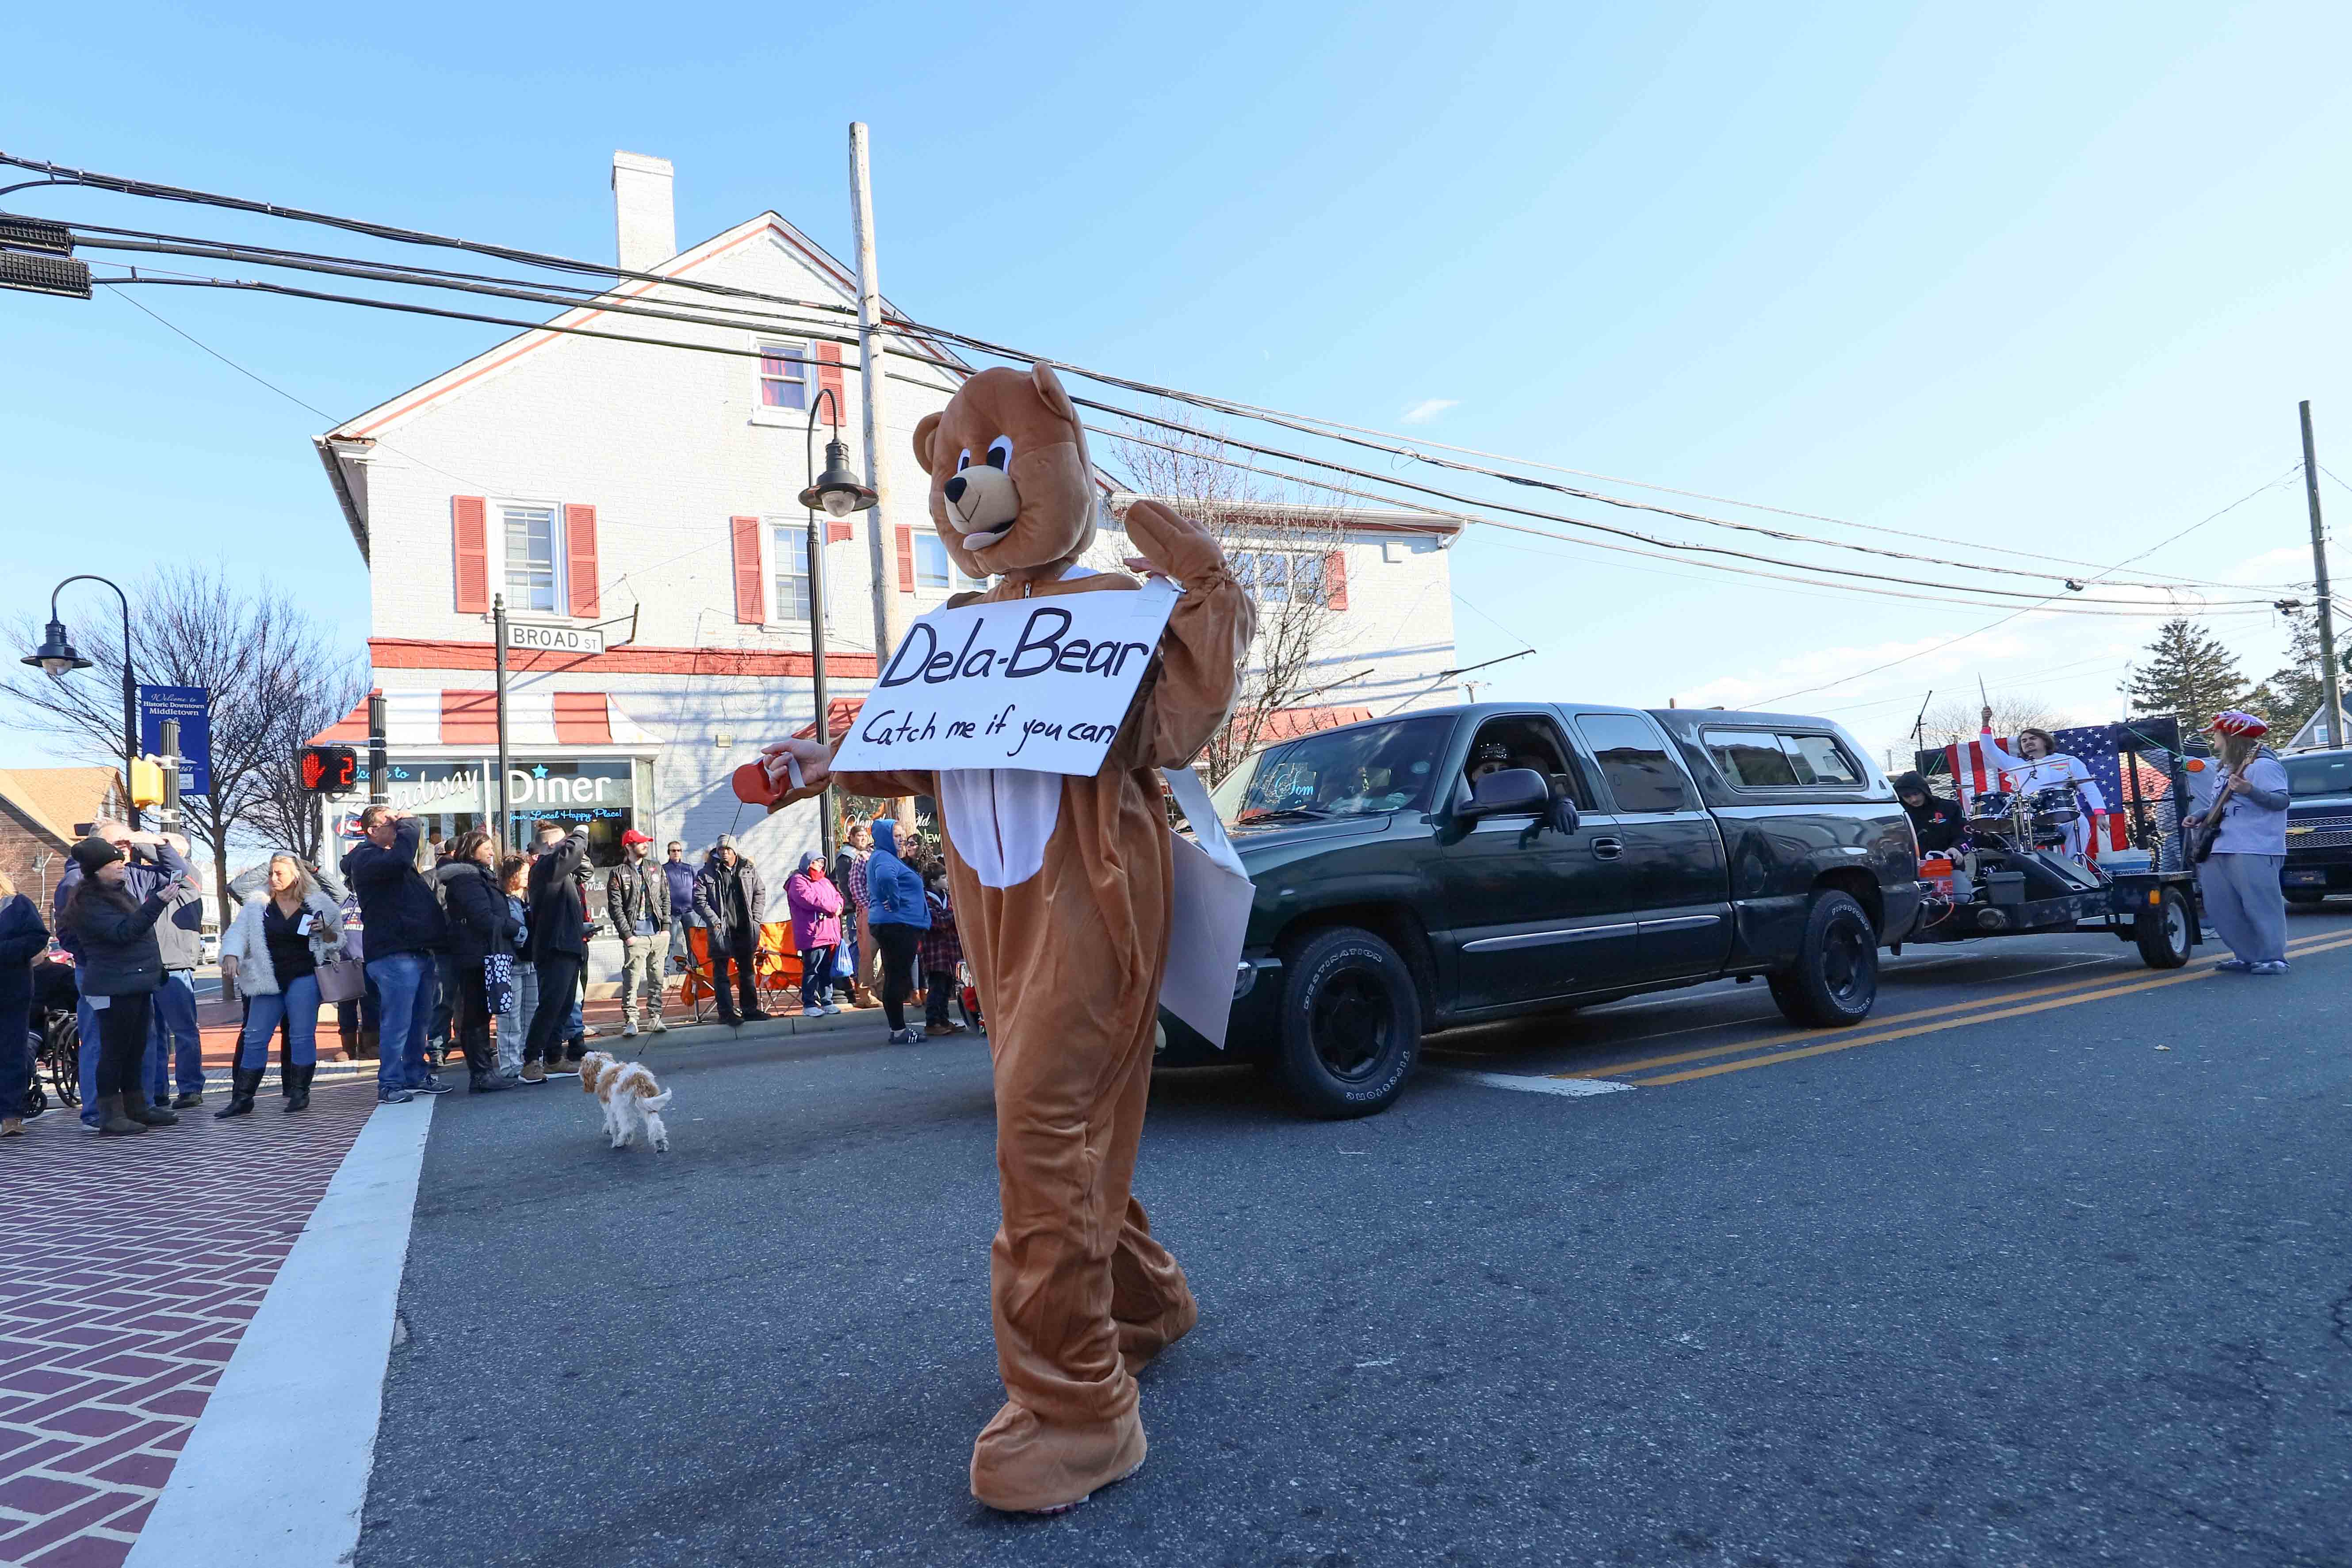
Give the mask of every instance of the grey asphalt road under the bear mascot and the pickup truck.
POLYGON ((449 1095, 358 1563, 2347 1563, 2352 910, 2293 936, 1910 950, 1837 1037, 1762 985, 1461 1032, 1350 1124, 1164 1074, 1202 1326, 1049 1521, 967 1493, 978 1044, 701 1048, 668 1157, 569 1079, 449 1095))

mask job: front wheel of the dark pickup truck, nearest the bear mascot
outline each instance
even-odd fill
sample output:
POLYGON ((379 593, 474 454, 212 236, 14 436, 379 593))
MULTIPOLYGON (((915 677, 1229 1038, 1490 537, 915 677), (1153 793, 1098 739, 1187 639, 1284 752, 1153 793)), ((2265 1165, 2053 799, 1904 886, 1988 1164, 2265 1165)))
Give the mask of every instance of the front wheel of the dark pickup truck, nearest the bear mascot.
POLYGON ((1359 926, 1317 931, 1282 961, 1275 1074, 1310 1117, 1388 1110, 1421 1060, 1421 997, 1397 950, 1359 926))

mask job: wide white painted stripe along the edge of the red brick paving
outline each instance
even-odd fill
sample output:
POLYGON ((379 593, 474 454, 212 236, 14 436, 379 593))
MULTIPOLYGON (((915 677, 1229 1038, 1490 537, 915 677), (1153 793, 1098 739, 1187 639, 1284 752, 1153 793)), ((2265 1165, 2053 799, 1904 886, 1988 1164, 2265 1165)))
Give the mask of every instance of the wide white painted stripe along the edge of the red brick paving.
POLYGON ((322 1568, 358 1552, 430 1131, 430 1098, 379 1107, 360 1128, 205 1401, 129 1568, 322 1568))

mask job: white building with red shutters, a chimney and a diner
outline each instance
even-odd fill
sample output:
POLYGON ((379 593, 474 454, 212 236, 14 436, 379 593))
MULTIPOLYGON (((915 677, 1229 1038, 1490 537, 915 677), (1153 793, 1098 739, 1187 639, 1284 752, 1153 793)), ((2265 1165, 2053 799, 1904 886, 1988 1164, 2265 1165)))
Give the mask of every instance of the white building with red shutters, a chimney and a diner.
MULTIPOLYGON (((833 310, 731 301, 776 331, 579 308, 318 437, 327 482, 369 567, 369 663, 383 691, 390 797, 437 832, 489 825, 496 705, 492 599, 515 623, 508 656, 510 804, 524 820, 588 820, 597 863, 626 827, 682 839, 699 863, 734 832, 769 882, 818 842, 814 806, 762 816, 729 773, 764 741, 814 722, 807 423, 830 388, 863 468, 854 270, 774 212, 684 252, 670 165, 616 153, 626 270, 715 282, 833 310), (816 327, 800 327, 816 322, 816 327), (623 341, 616 341, 623 339, 623 341), (656 348, 668 339, 729 353, 656 348)), ((607 301, 663 308, 713 296, 623 282, 607 301)), ((882 461, 889 512, 821 522, 828 691, 856 698, 875 672, 875 557, 910 614, 974 588, 924 512, 915 423, 969 367, 906 341, 891 360, 882 461), (880 552, 875 550, 880 531, 880 552)), ((818 463, 833 407, 816 423, 818 463)), ((1101 451, 1096 454, 1103 456, 1101 451)), ((1105 477, 1105 520, 1117 498, 1105 477)), ((1249 562, 1261 592, 1331 604, 1315 693, 1331 715, 1294 726, 1442 703, 1454 686, 1446 545, 1458 524, 1411 512, 1334 512, 1315 552, 1249 562), (1359 679, 1357 679, 1359 677, 1359 679)), ((1098 555, 1124 552, 1115 529, 1098 555)), ((322 741, 365 745, 365 708, 322 741)), ((346 802, 348 804, 348 802, 346 802)))

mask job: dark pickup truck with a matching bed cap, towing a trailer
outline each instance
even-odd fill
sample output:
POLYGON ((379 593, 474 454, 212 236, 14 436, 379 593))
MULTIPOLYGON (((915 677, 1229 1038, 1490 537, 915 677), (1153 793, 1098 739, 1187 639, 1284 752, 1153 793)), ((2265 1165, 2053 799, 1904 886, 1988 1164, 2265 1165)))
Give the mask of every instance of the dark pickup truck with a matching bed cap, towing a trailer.
POLYGON ((1270 745, 1216 806, 1256 882, 1228 1048, 1162 1013, 1157 1063, 1317 1117, 1383 1110, 1428 1030, 1726 976, 1849 1025, 1919 917, 1893 788, 1799 715, 1435 708, 1270 745))

